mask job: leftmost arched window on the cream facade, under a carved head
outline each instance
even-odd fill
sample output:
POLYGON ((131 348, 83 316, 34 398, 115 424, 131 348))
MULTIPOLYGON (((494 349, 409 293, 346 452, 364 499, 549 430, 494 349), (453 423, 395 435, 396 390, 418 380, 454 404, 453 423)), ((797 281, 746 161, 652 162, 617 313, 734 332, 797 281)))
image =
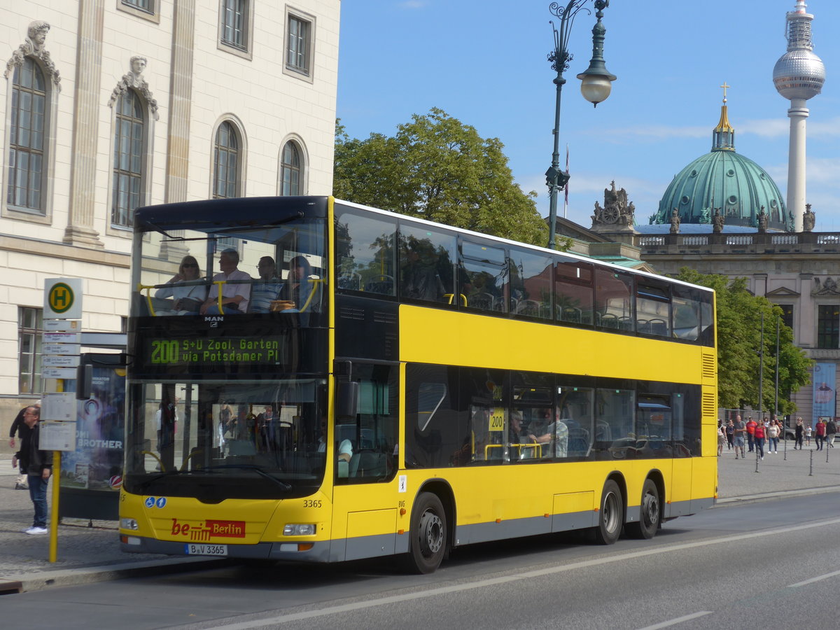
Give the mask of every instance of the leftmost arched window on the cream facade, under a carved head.
POLYGON ((44 213, 45 114, 44 73, 29 57, 14 69, 12 120, 8 149, 9 206, 44 213))

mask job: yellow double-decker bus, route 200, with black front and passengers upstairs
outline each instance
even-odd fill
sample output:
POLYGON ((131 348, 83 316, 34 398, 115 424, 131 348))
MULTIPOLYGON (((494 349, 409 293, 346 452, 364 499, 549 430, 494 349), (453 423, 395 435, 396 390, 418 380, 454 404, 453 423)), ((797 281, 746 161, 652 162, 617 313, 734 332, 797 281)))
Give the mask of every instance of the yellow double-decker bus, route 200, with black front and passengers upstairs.
POLYGON ((431 572, 715 500, 706 288, 332 197, 134 223, 127 552, 431 572))

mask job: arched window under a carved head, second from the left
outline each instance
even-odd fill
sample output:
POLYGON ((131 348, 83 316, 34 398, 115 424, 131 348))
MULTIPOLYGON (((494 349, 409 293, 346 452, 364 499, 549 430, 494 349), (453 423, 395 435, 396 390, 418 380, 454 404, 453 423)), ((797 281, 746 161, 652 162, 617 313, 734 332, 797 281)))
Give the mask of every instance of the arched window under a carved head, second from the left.
POLYGON ((143 190, 143 102, 128 89, 118 98, 113 133, 113 202, 111 223, 129 228, 143 190))

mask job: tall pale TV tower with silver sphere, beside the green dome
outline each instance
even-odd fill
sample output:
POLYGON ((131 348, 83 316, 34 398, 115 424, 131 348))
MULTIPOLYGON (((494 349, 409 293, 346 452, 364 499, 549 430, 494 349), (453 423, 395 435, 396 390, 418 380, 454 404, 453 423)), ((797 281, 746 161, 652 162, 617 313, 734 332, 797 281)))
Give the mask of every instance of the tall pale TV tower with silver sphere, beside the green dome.
POLYGON ((796 232, 802 231, 805 213, 805 121, 808 118, 805 102, 819 94, 826 81, 826 67, 813 53, 811 20, 814 16, 806 12, 806 6, 805 0, 796 0, 793 11, 788 12, 788 51, 773 69, 776 91, 790 101, 787 209, 793 215, 796 232))

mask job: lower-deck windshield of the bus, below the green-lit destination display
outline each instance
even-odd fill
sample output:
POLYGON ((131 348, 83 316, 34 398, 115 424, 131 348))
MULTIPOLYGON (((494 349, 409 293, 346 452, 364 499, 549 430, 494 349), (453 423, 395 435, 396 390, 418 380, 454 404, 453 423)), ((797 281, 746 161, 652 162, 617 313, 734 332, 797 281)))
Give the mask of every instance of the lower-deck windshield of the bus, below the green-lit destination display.
POLYGON ((151 496, 307 496, 323 480, 326 382, 135 382, 126 489, 151 496))

